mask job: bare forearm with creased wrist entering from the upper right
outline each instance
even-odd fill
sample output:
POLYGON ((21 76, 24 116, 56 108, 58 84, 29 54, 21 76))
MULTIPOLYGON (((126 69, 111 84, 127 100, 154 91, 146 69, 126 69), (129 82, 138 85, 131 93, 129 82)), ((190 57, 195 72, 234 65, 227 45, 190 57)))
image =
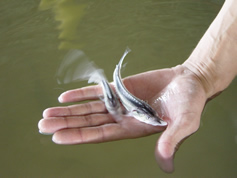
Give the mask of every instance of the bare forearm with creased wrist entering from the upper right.
POLYGON ((226 0, 188 60, 211 97, 224 90, 237 74, 237 1, 226 0))

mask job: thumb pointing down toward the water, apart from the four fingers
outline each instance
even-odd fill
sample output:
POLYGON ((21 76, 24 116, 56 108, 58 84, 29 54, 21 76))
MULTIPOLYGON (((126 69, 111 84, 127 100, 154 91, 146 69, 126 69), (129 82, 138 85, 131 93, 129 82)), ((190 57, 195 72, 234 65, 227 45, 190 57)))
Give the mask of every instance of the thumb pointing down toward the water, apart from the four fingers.
POLYGON ((168 173, 174 171, 174 155, 180 144, 191 134, 197 131, 197 119, 190 122, 183 118, 168 125, 156 145, 155 156, 160 168, 168 173))

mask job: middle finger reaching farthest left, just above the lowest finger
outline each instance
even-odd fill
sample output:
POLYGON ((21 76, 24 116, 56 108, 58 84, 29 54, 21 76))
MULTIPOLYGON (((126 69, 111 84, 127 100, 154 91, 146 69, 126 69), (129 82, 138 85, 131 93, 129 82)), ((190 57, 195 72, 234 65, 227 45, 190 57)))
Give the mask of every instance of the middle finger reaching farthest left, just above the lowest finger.
POLYGON ((49 134, 62 129, 94 127, 113 122, 114 119, 110 114, 94 114, 86 116, 51 117, 41 119, 38 127, 41 133, 49 134))

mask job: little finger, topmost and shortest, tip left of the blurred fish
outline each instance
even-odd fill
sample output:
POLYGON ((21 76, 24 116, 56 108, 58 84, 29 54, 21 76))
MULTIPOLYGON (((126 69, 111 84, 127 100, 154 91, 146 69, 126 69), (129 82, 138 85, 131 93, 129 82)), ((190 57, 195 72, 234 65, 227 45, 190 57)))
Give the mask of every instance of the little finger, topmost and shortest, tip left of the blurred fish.
POLYGON ((95 85, 66 91, 59 96, 58 100, 61 103, 93 100, 98 99, 102 94, 101 87, 95 85))

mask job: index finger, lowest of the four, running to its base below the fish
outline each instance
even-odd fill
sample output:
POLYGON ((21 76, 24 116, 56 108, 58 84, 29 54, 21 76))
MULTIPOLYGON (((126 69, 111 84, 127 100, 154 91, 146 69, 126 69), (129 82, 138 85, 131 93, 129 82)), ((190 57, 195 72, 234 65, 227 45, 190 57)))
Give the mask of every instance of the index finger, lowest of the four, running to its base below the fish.
POLYGON ((138 138, 164 130, 141 123, 130 116, 123 116, 122 122, 106 123, 97 127, 83 127, 57 131, 53 141, 58 144, 100 143, 128 138, 138 138), (133 126, 133 127, 131 127, 133 126))

